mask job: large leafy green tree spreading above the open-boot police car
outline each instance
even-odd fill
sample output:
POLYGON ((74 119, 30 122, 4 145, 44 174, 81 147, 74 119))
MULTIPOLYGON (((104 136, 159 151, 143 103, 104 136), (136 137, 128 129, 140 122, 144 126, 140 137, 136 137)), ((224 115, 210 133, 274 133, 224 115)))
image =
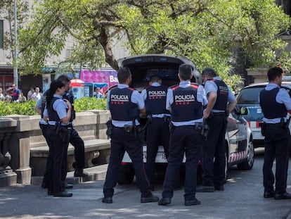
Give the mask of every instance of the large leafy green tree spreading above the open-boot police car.
POLYGON ((290 20, 273 0, 47 0, 34 4, 32 14, 19 44, 28 72, 58 56, 68 35, 75 39, 68 61, 91 68, 104 61, 118 68, 112 42, 123 35, 133 55, 186 56, 200 70, 211 66, 233 82, 239 81, 228 77, 235 49, 243 51, 246 67, 289 61, 276 33, 290 20))

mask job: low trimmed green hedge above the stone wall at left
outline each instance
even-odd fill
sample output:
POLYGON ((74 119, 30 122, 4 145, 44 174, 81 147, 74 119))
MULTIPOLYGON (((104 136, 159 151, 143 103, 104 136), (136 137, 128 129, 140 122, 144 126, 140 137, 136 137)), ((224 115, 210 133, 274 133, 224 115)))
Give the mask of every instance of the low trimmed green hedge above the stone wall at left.
MULTIPOLYGON (((25 103, 7 103, 0 101, 0 116, 4 115, 38 115, 34 111, 35 101, 26 101, 25 103)), ((96 97, 84 97, 75 100, 75 111, 84 112, 93 109, 106 110, 106 99, 96 99, 96 97)))

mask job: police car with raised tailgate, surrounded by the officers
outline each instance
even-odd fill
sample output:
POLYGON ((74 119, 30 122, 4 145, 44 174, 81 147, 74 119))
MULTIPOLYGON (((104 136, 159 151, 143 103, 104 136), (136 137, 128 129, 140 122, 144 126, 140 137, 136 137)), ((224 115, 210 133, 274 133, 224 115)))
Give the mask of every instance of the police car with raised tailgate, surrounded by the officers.
MULTIPOLYGON (((159 75, 162 85, 172 86, 179 84, 179 65, 187 63, 193 66, 193 82, 202 83, 201 74, 195 69, 195 64, 188 58, 180 56, 166 56, 149 54, 131 56, 118 60, 119 67, 127 67, 131 70, 131 87, 141 92, 148 86, 151 75, 159 75)), ((237 165, 240 170, 250 170, 254 164, 254 147, 252 144, 252 132, 247 125, 243 111, 235 108, 228 116, 226 132, 226 171, 228 167, 237 165)), ((143 161, 146 162, 146 145, 143 145, 143 161)), ((186 161, 184 157, 183 162, 186 161)), ((167 168, 167 159, 162 146, 159 146, 155 158, 157 172, 163 172, 167 168)), ((199 170, 198 170, 199 171, 199 170)), ((127 153, 124 154, 119 170, 119 184, 130 184, 134 180, 134 168, 127 153)))

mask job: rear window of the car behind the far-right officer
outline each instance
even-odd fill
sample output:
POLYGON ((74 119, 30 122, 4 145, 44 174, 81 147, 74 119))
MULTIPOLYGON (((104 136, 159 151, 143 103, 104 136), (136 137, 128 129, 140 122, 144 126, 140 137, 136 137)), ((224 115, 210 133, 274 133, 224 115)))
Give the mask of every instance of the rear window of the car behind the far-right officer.
POLYGON ((238 94, 238 104, 259 104, 259 92, 264 87, 250 87, 243 89, 238 94))

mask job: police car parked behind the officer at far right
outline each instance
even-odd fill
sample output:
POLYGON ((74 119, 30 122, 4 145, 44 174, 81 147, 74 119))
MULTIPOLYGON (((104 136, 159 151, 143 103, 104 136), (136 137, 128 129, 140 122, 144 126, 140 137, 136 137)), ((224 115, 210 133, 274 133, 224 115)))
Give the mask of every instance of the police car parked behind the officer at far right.
MULTIPOLYGON (((259 92, 261 92, 261 89, 264 89, 266 85, 268 85, 268 83, 264 82, 244 87, 240 90, 236 98, 238 101, 237 106, 244 106, 249 111, 249 113, 245 115, 245 119, 252 130, 254 147, 264 146, 264 136, 261 135, 261 127, 259 127, 259 123, 261 123, 264 118, 261 106, 259 106, 259 92)), ((282 82, 281 87, 285 88, 291 96, 291 82, 282 82)))

